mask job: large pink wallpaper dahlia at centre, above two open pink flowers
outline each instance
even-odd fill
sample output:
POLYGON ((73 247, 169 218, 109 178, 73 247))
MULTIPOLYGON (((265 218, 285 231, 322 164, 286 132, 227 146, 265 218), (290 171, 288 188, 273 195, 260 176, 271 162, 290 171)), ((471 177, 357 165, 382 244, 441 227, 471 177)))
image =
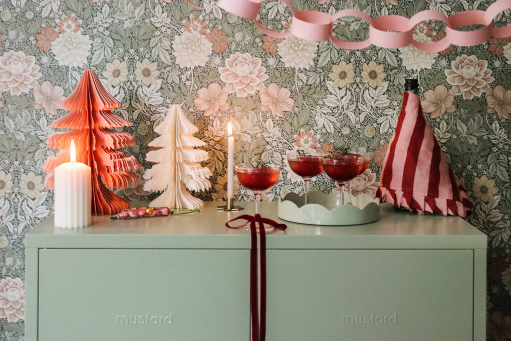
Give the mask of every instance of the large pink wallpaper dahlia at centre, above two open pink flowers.
POLYGON ((255 90, 261 88, 263 81, 268 79, 265 74, 266 67, 262 65, 262 59, 252 58, 248 52, 230 55, 225 59, 225 67, 219 67, 220 79, 227 83, 229 93, 236 92, 238 97, 254 95, 255 90))

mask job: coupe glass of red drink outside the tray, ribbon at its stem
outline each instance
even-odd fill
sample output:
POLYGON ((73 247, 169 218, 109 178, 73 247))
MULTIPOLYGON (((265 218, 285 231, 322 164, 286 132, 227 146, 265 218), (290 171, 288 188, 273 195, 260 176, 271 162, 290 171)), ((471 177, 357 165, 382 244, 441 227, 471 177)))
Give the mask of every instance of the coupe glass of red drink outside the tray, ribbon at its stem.
POLYGON ((261 192, 272 188, 277 183, 278 176, 281 173, 281 166, 265 164, 263 167, 254 168, 252 165, 241 164, 234 166, 234 168, 240 184, 254 192, 255 214, 259 214, 261 192))

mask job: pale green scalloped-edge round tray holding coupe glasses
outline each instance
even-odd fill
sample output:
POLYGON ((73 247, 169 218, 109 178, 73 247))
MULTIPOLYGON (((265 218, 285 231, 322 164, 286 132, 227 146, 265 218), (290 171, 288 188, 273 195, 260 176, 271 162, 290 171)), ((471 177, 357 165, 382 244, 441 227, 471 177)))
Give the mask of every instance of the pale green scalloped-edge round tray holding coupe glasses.
POLYGON ((290 192, 278 198, 278 217, 300 224, 337 226, 367 224, 380 219, 379 198, 362 193, 352 196, 352 202, 352 205, 340 205, 338 191, 328 195, 310 191, 309 203, 304 205, 303 194, 290 192))

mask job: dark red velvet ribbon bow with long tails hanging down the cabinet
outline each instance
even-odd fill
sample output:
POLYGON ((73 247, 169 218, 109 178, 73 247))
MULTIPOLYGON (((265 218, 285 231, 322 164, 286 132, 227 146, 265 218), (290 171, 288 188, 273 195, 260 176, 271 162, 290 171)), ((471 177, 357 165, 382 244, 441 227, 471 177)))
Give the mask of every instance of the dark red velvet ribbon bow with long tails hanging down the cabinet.
POLYGON ((229 229, 242 228, 250 223, 250 316, 252 321, 252 341, 265 341, 266 339, 266 233, 264 224, 273 226, 277 230, 286 230, 287 225, 261 217, 243 214, 225 223, 229 229), (246 220, 240 226, 230 226, 229 222, 246 220), (259 316, 258 288, 257 288, 257 228, 259 223, 259 235, 261 236, 261 316, 259 316))

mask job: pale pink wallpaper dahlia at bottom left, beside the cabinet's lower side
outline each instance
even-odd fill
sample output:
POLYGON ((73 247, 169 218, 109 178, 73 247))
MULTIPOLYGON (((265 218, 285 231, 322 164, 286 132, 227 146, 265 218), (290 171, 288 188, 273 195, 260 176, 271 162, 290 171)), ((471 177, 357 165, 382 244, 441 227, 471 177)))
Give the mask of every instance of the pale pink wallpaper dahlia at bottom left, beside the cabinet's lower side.
POLYGON ((25 320, 25 283, 7 277, 0 282, 0 319, 7 322, 25 320))

